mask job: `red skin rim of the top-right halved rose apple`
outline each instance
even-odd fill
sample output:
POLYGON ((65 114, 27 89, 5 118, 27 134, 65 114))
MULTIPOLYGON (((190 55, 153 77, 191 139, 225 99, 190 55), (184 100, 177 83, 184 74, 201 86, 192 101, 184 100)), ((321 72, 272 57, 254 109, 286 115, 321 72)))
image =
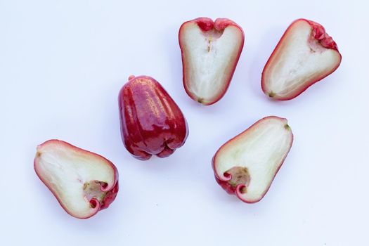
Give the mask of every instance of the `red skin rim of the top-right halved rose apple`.
POLYGON ((341 53, 339 53, 339 51, 338 51, 337 44, 335 43, 335 41, 333 41, 332 37, 330 37, 325 32, 325 29, 321 24, 319 24, 318 22, 313 22, 312 20, 306 20, 306 19, 302 19, 302 18, 294 20, 294 22, 292 22, 291 25, 289 27, 287 27, 287 30, 285 30, 285 33, 283 34, 283 36, 278 41, 278 44, 277 44, 276 48, 274 48, 273 52, 271 53, 271 56, 268 58, 268 61, 266 62, 266 65, 264 66, 264 70, 261 73, 261 89, 263 90, 263 92, 266 95, 268 95, 268 91, 266 90, 265 84, 264 84, 264 72, 266 70, 266 67, 268 67, 269 63, 271 62, 271 58, 276 53, 276 50, 277 50, 278 46, 280 45, 280 43, 283 41, 283 39, 285 39, 285 36, 287 35, 287 32, 290 30, 290 27, 292 27, 292 25, 295 22, 298 22, 298 21, 306 21, 306 22, 309 23, 309 25, 311 25, 311 28, 312 28, 311 32, 313 32, 314 39, 319 41, 323 47, 330 48, 330 49, 333 49, 333 50, 337 51, 337 53, 339 54, 339 63, 337 64, 337 66, 333 67, 332 70, 330 70, 326 75, 322 75, 321 77, 318 77, 318 79, 312 80, 312 81, 306 83, 306 85, 304 87, 302 87, 302 89, 300 89, 299 91, 296 91, 296 92, 292 93, 290 96, 285 96, 283 98, 273 97, 272 99, 274 99, 274 100, 287 101, 287 100, 291 100, 291 99, 299 96, 299 94, 306 91, 306 89, 308 89, 311 85, 315 84, 316 82, 321 81, 321 79, 324 79, 328 75, 332 74, 332 72, 335 72, 335 70, 337 70, 337 68, 341 64, 342 56, 341 56, 341 53))

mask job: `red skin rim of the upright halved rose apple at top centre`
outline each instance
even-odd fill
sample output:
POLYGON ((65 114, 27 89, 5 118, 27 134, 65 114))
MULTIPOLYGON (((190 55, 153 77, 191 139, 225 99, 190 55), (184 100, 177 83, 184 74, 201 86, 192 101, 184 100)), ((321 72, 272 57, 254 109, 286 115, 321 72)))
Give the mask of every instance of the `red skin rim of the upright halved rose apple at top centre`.
POLYGON ((212 104, 216 103, 217 101, 221 100, 221 98, 224 96, 224 94, 228 90, 228 86, 231 83, 233 74, 235 72, 235 67, 237 67, 238 60, 240 60, 240 56, 241 56, 241 53, 242 53, 242 48, 243 48, 243 45, 244 45, 244 42, 245 42, 245 34, 244 34, 242 28, 239 25, 237 25, 235 22, 233 22, 232 20, 229 20, 227 18, 217 18, 215 20, 215 22, 213 22, 213 20, 210 19, 210 18, 200 17, 200 18, 196 18, 194 20, 188 20, 188 21, 184 22, 181 25, 181 27, 179 28, 178 39, 179 39, 179 47, 181 48, 183 86, 184 86, 184 89, 186 90, 186 93, 188 94, 188 96, 190 96, 190 98, 192 98, 194 101, 198 101, 198 98, 196 98, 195 95, 190 93, 190 91, 188 91, 187 86, 186 86, 186 72, 185 72, 185 68, 184 68, 183 49, 182 49, 181 38, 180 38, 181 37, 181 30, 186 25, 186 23, 188 23, 188 22, 196 23, 203 32, 207 32, 209 30, 212 30, 213 28, 217 31, 221 31, 221 30, 225 30, 226 27, 228 27, 229 25, 233 25, 234 27, 237 27, 238 30, 240 30, 240 32, 242 33, 242 41, 241 41, 241 46, 238 50, 238 56, 235 59, 235 65, 234 65, 234 67, 233 67, 233 69, 230 73, 230 77, 228 78, 228 80, 226 82, 226 86, 224 87, 225 88, 224 91, 217 98, 215 98, 214 101, 212 101, 210 103, 202 103, 202 105, 212 105, 212 104))

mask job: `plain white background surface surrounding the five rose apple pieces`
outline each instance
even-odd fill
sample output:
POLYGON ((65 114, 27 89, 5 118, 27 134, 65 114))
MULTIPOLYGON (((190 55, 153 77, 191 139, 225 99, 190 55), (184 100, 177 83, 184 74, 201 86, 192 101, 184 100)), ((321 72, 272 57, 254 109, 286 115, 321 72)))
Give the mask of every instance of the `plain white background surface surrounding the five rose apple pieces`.
POLYGON ((368 5, 365 1, 0 1, 1 245, 369 245, 368 5), (226 17, 245 47, 226 96, 202 106, 181 81, 178 30, 226 17), (261 70, 287 25, 324 25, 336 72, 292 101, 261 93, 261 70), (125 150, 117 94, 150 75, 188 120, 166 159, 125 150), (214 181, 215 151, 267 115, 294 143, 261 202, 214 181), (117 166, 120 190, 91 219, 69 216, 34 174, 37 144, 59 138, 117 166))

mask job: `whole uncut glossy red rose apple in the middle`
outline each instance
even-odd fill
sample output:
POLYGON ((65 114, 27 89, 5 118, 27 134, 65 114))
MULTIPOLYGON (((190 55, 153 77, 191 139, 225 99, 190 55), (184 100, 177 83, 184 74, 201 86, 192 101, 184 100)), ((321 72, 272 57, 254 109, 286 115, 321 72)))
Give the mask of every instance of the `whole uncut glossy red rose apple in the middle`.
POLYGON ((118 103, 124 146, 137 159, 168 157, 185 143, 186 119, 152 77, 129 77, 119 91, 118 103))

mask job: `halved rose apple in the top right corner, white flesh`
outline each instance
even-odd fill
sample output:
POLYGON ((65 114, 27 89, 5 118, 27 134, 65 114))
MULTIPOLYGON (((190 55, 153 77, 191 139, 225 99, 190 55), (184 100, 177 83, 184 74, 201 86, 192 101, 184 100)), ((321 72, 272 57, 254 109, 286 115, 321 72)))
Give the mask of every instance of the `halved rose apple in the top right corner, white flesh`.
POLYGON ((273 99, 290 100, 334 72, 341 59, 337 44, 322 25, 295 20, 266 63, 261 87, 273 99))

